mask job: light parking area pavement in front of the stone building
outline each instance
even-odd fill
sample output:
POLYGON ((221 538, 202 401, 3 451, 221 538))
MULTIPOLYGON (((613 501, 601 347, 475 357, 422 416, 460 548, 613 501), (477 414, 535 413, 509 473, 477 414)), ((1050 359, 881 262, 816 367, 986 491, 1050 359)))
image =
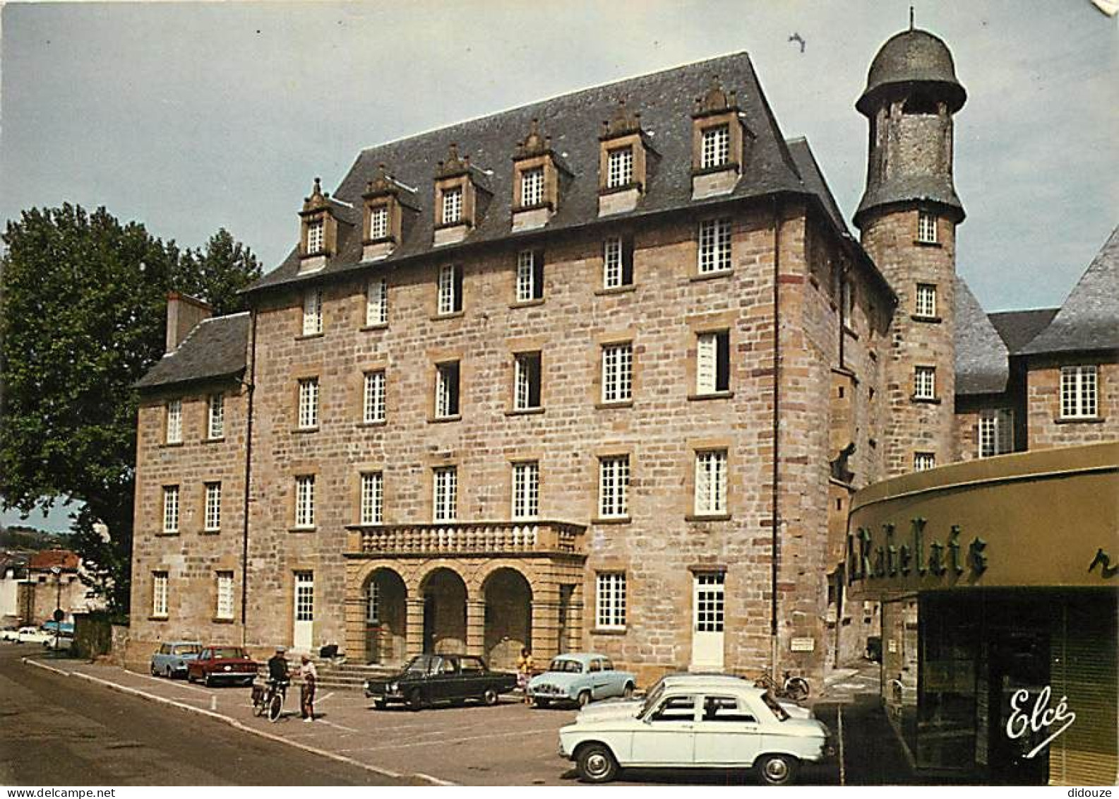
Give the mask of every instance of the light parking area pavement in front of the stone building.
MULTIPOLYGON (((493 707, 468 704, 420 713, 377 711, 357 692, 320 690, 316 722, 299 718, 299 690, 292 686, 284 716, 271 723, 253 715, 245 687, 206 688, 121 668, 77 660, 44 660, 78 678, 134 695, 175 703, 182 709, 213 714, 247 732, 275 737, 337 760, 417 783, 489 786, 577 784, 570 762, 558 755, 558 731, 575 717, 570 708, 537 709, 517 697, 493 707)), ((626 771, 626 784, 754 784, 750 772, 626 771)), ((838 784, 835 763, 806 767, 800 782, 838 784)))

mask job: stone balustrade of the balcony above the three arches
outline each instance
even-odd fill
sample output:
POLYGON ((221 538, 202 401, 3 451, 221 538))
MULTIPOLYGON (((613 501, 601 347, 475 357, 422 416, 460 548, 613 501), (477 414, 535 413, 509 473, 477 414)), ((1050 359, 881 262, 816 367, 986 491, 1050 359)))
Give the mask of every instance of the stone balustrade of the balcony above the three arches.
POLYGON ((583 554, 582 525, 566 521, 446 521, 350 527, 359 555, 583 554))

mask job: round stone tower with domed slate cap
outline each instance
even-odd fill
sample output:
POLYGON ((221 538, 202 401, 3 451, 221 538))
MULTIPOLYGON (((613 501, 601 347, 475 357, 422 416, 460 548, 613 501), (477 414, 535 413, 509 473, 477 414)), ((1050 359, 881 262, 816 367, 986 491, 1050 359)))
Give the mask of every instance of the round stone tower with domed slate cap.
POLYGON ((955 459, 956 226, 952 115, 967 93, 952 55, 924 30, 892 37, 855 107, 871 123, 866 191, 855 213, 863 246, 897 292, 886 357, 890 476, 955 459))

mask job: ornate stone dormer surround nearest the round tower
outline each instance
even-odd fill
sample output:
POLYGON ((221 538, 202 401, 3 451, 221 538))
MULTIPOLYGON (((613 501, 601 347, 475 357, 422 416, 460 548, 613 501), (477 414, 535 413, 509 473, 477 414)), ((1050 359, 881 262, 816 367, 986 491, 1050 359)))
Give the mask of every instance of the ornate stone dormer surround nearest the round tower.
POLYGON ((711 86, 696 97, 696 110, 692 114, 692 199, 734 191, 753 138, 753 132, 742 121, 737 93, 724 91, 718 75, 713 75, 711 86), (723 126, 730 139, 728 157, 717 166, 704 166, 704 134, 723 126))

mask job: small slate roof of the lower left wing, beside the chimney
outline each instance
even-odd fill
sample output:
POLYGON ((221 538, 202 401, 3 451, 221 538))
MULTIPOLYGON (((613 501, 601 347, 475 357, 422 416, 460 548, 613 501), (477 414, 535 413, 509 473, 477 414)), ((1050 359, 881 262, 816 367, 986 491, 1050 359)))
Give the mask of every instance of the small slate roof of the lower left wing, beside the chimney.
POLYGON ((172 352, 134 385, 151 389, 176 383, 239 376, 248 350, 248 312, 200 321, 172 352))

